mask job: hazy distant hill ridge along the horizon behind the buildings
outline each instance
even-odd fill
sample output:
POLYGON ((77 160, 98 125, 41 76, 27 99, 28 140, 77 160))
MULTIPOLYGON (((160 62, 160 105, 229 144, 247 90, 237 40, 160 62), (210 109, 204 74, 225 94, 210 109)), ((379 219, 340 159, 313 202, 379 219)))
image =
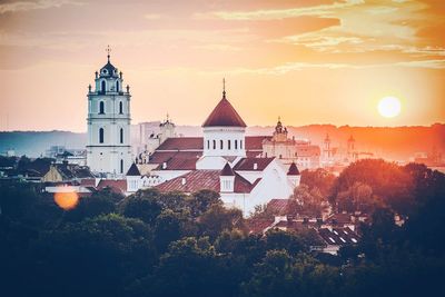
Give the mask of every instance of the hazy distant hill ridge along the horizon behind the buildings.
MULTIPOLYGON (((334 125, 308 125, 287 127, 289 136, 297 139, 308 139, 315 145, 323 145, 326 133, 329 133, 333 147, 346 147, 349 136, 356 140, 360 151, 376 152, 390 159, 407 159, 414 154, 432 152, 435 149, 445 156, 445 125, 435 123, 429 127, 336 127, 334 125)), ((271 135, 274 127, 249 127, 248 135, 271 135)), ((177 126, 177 133, 199 136, 198 126, 177 126)), ((85 148, 86 133, 70 131, 13 131, 0 132, 0 152, 14 149, 16 154, 38 157, 55 145, 67 148, 85 148)))

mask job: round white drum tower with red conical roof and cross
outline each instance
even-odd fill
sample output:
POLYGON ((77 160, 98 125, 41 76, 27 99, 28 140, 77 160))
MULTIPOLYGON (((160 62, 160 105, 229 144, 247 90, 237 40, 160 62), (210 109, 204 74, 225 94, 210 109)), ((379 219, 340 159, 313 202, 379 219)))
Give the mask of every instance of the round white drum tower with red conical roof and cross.
POLYGON ((202 123, 205 157, 246 157, 246 123, 226 98, 222 98, 202 123))

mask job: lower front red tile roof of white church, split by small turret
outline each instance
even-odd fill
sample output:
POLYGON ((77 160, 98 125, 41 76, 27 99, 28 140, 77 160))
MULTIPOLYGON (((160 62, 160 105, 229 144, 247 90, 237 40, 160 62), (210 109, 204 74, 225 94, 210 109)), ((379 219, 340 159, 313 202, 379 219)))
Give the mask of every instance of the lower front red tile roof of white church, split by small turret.
MULTIPOLYGON (((220 170, 194 170, 180 177, 167 180, 158 186, 162 192, 167 191, 184 191, 195 192, 198 190, 207 189, 219 192, 219 175, 220 170)), ((260 181, 257 179, 254 184, 250 184, 247 179, 239 175, 235 175, 234 192, 250 192, 254 187, 260 181)))

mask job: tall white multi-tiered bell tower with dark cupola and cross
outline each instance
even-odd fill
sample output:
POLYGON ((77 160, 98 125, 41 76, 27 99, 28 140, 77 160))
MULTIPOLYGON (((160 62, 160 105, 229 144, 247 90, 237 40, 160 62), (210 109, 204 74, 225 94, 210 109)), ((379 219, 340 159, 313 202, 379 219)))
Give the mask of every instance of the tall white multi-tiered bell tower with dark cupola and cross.
POLYGON ((131 165, 130 87, 123 90, 122 72, 110 62, 96 71, 95 89, 88 87, 87 165, 102 176, 123 176, 131 165))

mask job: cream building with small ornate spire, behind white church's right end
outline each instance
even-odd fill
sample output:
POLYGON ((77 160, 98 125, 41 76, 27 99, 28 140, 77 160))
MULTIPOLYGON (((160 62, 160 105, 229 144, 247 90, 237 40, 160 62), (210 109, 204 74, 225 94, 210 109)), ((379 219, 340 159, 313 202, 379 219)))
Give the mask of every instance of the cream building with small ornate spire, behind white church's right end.
POLYGON ((284 164, 295 162, 299 169, 316 169, 320 167, 320 148, 307 140, 289 138, 287 128, 278 118, 271 139, 263 142, 264 157, 277 157, 284 164))

